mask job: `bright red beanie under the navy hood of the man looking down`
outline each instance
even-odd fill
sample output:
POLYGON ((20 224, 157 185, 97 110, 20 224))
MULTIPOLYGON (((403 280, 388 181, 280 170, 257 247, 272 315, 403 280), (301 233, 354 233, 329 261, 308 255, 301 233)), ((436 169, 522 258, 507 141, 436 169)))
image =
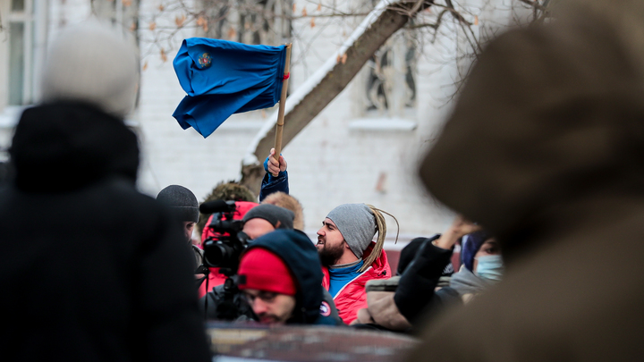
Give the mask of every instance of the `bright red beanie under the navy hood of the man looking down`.
POLYGON ((266 248, 251 248, 245 253, 237 274, 240 290, 256 289, 295 295, 295 282, 288 266, 266 248))

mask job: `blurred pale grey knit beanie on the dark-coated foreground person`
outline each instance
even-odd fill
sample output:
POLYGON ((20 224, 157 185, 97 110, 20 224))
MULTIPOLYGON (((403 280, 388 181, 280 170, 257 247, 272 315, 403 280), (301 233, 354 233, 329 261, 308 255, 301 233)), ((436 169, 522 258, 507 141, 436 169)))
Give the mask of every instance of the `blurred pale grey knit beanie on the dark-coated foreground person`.
POLYGON ((64 29, 43 67, 43 102, 71 100, 97 105, 123 119, 134 108, 139 55, 131 41, 98 21, 64 29))

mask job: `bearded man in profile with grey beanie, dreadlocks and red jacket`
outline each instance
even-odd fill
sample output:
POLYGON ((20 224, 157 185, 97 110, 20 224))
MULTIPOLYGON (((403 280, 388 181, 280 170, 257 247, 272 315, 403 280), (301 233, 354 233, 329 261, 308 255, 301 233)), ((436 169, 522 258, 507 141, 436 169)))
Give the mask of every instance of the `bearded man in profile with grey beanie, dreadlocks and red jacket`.
POLYGON ((318 231, 322 285, 331 293, 346 324, 356 319, 360 308, 367 307, 365 284, 392 275, 383 250, 386 223, 382 213, 370 205, 344 204, 326 215, 318 231))

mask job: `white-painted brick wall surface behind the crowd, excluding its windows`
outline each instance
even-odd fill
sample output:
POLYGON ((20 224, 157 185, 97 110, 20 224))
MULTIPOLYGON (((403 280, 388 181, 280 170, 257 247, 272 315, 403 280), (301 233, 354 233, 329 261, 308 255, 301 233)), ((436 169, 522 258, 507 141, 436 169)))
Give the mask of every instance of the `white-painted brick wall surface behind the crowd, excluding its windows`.
MULTIPOLYGON (((51 34, 60 25, 89 15, 89 1, 50 3, 51 34)), ((147 65, 141 73, 140 106, 132 116, 139 125, 143 150, 140 189, 156 195, 169 184, 181 184, 192 189, 198 198, 204 198, 217 182, 239 179, 242 157, 259 129, 262 113, 235 115, 208 139, 194 130, 181 129, 172 113, 184 93, 174 75, 172 59, 182 38, 195 33, 183 30, 170 45, 145 41, 151 35, 148 30, 151 15, 161 3, 158 0, 140 2, 141 54, 146 55, 141 64, 147 65), (164 46, 168 51, 165 63, 155 46, 164 46), (168 50, 171 46, 172 51, 168 50), (235 128, 241 121, 249 121, 250 126, 235 128)), ((296 14, 301 13, 303 6, 307 6, 309 14, 317 8, 309 2, 297 1, 296 14)), ((173 19, 165 21, 172 23, 173 19)), ((159 23, 162 21, 157 19, 159 23)), ((320 18, 314 28, 310 27, 309 19, 293 23, 299 38, 293 40, 292 89, 334 53, 359 21, 320 18)), ((410 236, 441 232, 449 225, 449 211, 436 205, 420 187, 416 164, 436 138, 449 112, 445 100, 453 92, 455 67, 447 62, 453 59, 453 49, 455 45, 450 40, 443 44, 424 44, 426 56, 418 64, 418 106, 415 116, 411 117, 411 121, 418 123, 415 130, 350 130, 349 123, 363 116, 356 106, 364 89, 363 78, 359 76, 284 148, 292 195, 304 206, 309 231, 317 230, 333 207, 350 202, 373 204, 395 215, 401 232, 410 236), (383 174, 385 186, 377 190, 383 174)), ((394 235, 393 220, 388 218, 387 223, 394 235)))

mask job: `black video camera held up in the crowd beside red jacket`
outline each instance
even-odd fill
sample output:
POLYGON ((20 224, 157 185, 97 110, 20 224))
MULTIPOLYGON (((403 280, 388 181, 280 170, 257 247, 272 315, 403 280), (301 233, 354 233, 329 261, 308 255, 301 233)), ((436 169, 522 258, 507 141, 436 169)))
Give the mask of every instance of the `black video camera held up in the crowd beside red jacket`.
POLYGON ((204 241, 204 264, 220 268, 220 273, 231 276, 237 272, 239 257, 248 246, 248 236, 242 232, 242 220, 233 220, 234 201, 214 200, 199 206, 201 214, 213 214, 208 227, 214 236, 204 241))

